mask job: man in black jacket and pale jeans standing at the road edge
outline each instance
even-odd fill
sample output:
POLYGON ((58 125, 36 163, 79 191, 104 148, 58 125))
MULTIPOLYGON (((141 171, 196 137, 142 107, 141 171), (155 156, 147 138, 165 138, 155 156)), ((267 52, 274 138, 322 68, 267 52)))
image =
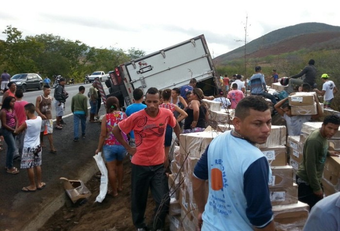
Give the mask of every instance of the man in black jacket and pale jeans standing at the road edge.
POLYGON ((54 89, 54 107, 55 107, 55 115, 56 115, 56 129, 62 129, 60 120, 64 115, 64 103, 66 102, 66 92, 64 91, 66 80, 64 78, 60 78, 58 85, 54 89))

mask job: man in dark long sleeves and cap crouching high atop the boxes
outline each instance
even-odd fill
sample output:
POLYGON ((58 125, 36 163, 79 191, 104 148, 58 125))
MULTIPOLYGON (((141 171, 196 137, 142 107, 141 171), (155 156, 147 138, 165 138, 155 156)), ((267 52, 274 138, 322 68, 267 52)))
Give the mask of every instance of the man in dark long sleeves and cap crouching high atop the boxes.
POLYGON ((288 79, 289 79, 288 89, 287 89, 288 94, 293 92, 295 85, 301 86, 301 84, 304 83, 304 82, 309 83, 309 85, 311 85, 312 87, 314 86, 315 78, 316 78, 316 68, 315 68, 314 64, 315 64, 314 59, 311 59, 308 62, 308 66, 305 66, 305 68, 299 74, 288 77, 288 79), (304 80, 296 79, 296 78, 299 78, 303 75, 305 75, 304 80))

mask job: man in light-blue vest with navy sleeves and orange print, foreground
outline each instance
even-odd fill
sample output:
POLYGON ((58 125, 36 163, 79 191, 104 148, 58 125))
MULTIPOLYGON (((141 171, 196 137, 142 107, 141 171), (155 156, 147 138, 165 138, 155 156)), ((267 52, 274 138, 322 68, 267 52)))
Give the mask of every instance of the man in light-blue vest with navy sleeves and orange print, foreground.
POLYGON ((233 131, 213 139, 194 169, 198 230, 274 231, 268 186, 272 174, 266 157, 255 146, 264 144, 271 132, 267 101, 257 96, 240 100, 233 124, 233 131))

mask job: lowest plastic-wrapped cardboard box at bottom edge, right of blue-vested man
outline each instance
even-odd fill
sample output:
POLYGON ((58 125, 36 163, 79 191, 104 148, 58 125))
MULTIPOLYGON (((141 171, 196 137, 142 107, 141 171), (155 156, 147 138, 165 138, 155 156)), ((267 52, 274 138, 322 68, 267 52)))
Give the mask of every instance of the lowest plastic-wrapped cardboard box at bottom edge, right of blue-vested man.
POLYGON ((272 206, 277 231, 301 230, 309 215, 309 206, 301 201, 296 204, 272 206))

